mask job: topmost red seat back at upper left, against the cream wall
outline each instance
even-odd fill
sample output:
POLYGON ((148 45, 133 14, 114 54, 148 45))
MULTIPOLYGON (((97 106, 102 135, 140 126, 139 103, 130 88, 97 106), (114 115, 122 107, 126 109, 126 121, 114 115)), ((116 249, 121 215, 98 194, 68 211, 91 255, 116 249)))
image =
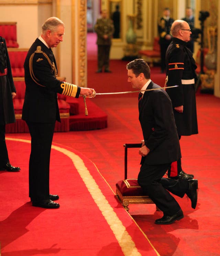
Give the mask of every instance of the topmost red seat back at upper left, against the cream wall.
POLYGON ((0 35, 5 39, 7 48, 19 46, 17 43, 17 22, 0 22, 0 35))

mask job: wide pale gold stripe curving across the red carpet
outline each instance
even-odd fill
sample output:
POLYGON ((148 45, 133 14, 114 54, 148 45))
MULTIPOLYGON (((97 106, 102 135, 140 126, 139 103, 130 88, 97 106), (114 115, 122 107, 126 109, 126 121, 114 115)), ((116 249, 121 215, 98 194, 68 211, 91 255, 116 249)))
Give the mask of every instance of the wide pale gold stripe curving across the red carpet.
MULTIPOLYGON (((31 143, 30 140, 25 140, 25 139, 17 139, 17 138, 5 138, 5 139, 31 143)), ((138 252, 138 250, 135 246, 135 243, 132 240, 132 237, 126 231, 125 226, 123 226, 119 217, 114 212, 114 209, 111 207, 111 205, 108 203, 105 196, 102 194, 96 181, 93 179, 89 170, 86 168, 84 161, 79 156, 77 156, 77 154, 75 154, 67 149, 64 149, 64 148, 61 148, 58 146, 54 146, 54 145, 52 145, 52 149, 62 152, 63 154, 68 156, 73 161, 73 164, 74 164, 75 168, 77 169, 80 177, 84 181, 89 193, 91 194, 95 203, 99 207, 99 210, 101 211, 102 215, 106 219, 115 238, 117 239, 119 245, 121 246, 121 249, 122 249, 122 252, 124 253, 124 255, 125 256, 131 256, 131 255, 132 256, 141 256, 141 254, 138 252)), ((146 237, 146 235, 145 235, 145 237, 146 237)), ((147 238, 147 240, 148 240, 148 238, 147 238)), ((150 242, 150 241, 148 240, 148 242, 150 242)), ((150 243, 150 245, 155 250, 155 253, 157 255, 159 255, 151 243, 150 243)))

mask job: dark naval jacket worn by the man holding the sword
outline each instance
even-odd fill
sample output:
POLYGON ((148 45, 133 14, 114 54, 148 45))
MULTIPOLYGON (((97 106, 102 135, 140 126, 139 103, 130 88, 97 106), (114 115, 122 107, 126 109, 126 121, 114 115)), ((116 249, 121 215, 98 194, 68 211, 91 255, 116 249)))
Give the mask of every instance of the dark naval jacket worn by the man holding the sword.
MULTIPOLYGON (((32 67, 34 76, 38 79, 39 85, 35 83, 30 74, 29 60, 36 51, 37 46, 47 54, 51 62, 55 63, 55 57, 51 49, 48 49, 39 39, 36 39, 28 51, 24 62, 24 78, 26 84, 22 119, 31 122, 60 122, 59 108, 57 103, 57 93, 62 94, 62 81, 55 78, 51 65, 42 53, 35 53, 32 67)), ((79 97, 80 87, 78 87, 76 97, 79 97)))

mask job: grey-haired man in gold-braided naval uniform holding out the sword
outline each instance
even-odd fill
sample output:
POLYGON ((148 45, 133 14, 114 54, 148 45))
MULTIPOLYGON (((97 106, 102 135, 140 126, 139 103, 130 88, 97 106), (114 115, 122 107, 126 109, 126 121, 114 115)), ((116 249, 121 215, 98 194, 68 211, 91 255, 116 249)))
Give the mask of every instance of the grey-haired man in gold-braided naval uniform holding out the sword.
POLYGON ((61 121, 57 93, 78 98, 90 96, 94 89, 59 81, 51 47, 63 41, 64 23, 51 17, 42 25, 42 33, 32 44, 24 62, 25 97, 22 119, 31 134, 29 160, 29 196, 33 206, 58 208, 58 195, 49 193, 51 145, 55 122, 61 121))

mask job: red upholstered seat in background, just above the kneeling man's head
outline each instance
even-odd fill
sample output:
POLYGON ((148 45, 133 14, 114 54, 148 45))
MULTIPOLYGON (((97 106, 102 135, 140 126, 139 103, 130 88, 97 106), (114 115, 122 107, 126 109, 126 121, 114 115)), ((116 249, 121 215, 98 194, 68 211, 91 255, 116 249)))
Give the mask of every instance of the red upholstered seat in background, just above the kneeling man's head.
POLYGON ((150 63, 150 67, 153 67, 153 63, 158 62, 161 59, 159 37, 154 38, 153 50, 141 50, 138 53, 139 55, 141 55, 141 57, 145 57, 146 61, 150 63))

